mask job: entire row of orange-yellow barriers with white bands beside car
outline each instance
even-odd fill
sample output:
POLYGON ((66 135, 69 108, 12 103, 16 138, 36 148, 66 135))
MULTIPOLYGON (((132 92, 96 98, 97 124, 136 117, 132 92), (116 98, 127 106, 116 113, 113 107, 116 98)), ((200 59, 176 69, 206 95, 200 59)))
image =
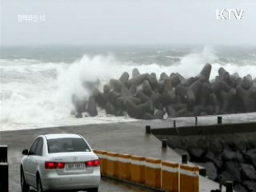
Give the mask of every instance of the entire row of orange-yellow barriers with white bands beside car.
POLYGON ((178 162, 94 150, 101 174, 166 192, 199 192, 199 167, 178 162))

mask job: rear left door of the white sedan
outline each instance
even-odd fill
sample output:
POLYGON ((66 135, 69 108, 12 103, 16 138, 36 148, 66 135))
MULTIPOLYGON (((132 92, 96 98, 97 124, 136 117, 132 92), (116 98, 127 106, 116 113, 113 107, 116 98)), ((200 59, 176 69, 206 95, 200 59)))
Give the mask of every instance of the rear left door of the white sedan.
POLYGON ((38 144, 35 148, 35 153, 33 155, 32 161, 31 161, 31 179, 32 179, 32 183, 31 186, 37 186, 37 178, 36 178, 36 174, 38 171, 38 166, 42 160, 42 138, 38 138, 38 144))

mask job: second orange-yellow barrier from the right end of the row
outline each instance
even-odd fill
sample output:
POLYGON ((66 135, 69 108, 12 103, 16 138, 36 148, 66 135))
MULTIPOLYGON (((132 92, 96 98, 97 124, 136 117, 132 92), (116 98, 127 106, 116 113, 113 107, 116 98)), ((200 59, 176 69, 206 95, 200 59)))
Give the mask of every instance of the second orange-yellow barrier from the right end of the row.
POLYGON ((178 162, 162 162, 162 190, 178 192, 178 162))

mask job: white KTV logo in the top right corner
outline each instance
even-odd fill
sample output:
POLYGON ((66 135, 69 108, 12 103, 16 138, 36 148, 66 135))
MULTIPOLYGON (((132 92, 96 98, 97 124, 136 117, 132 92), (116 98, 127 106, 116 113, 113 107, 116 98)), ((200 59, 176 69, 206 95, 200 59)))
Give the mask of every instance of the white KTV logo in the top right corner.
POLYGON ((223 9, 216 10, 216 19, 242 19, 244 10, 223 9))

